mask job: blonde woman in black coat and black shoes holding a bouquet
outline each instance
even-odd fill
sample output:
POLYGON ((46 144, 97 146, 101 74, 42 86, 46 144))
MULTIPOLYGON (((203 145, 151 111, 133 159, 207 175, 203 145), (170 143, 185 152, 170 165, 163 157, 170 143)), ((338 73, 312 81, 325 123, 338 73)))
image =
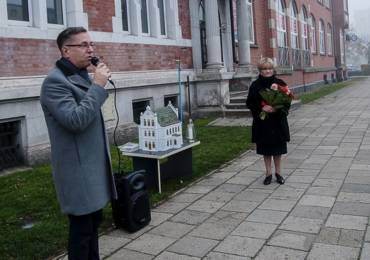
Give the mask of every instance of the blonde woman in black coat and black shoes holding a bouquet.
MULTIPOLYGON (((246 105, 253 114, 252 142, 256 144, 256 153, 263 155, 266 167, 265 185, 269 185, 272 179, 272 158, 275 164, 275 177, 277 183, 285 182, 281 174, 281 157, 287 153, 287 142, 290 141, 287 113, 282 109, 275 109, 268 104, 263 105, 262 90, 270 90, 271 85, 276 83, 287 86, 283 81, 273 75, 274 63, 270 58, 262 58, 258 62, 258 79, 253 81, 249 87, 246 105), (268 113, 264 120, 260 119, 260 112, 268 113)), ((290 103, 285 104, 286 111, 290 109, 290 103)))

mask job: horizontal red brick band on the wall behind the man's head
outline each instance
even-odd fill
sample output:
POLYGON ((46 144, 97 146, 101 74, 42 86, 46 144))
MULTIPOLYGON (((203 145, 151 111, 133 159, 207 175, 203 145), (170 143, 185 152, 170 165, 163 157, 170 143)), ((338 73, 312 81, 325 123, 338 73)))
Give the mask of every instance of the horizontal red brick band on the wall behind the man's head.
MULTIPOLYGON (((189 47, 98 42, 96 44, 98 47, 94 55, 107 63, 112 72, 176 70, 175 56, 181 58, 182 68, 193 67, 193 54, 189 47)), ((47 75, 59 58, 56 40, 0 38, 0 60, 4 60, 0 63, 0 77, 47 75)))

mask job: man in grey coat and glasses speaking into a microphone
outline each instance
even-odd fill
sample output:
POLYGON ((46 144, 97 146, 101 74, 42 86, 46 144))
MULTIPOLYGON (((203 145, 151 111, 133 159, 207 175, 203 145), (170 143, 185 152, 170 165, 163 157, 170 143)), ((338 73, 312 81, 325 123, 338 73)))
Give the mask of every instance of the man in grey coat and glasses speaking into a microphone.
POLYGON ((62 58, 41 86, 40 102, 51 143, 51 166, 63 213, 70 220, 68 259, 99 259, 102 207, 117 198, 101 107, 110 70, 88 75, 95 44, 83 27, 57 38, 62 58))

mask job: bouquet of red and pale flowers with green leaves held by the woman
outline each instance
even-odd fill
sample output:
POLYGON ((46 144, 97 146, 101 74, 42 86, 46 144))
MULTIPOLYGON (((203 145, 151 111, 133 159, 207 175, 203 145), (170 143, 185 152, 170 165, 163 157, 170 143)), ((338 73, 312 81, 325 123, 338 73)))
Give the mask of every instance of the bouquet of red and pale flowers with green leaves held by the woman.
MULTIPOLYGON (((290 104, 292 99, 295 98, 295 95, 290 92, 288 87, 282 87, 275 83, 271 85, 270 90, 262 90, 260 94, 263 98, 263 106, 268 104, 271 107, 275 107, 275 109, 282 109, 282 112, 285 114, 289 111, 284 105, 290 104)), ((268 113, 264 111, 260 112, 260 119, 265 120, 266 118, 268 118, 268 113)))

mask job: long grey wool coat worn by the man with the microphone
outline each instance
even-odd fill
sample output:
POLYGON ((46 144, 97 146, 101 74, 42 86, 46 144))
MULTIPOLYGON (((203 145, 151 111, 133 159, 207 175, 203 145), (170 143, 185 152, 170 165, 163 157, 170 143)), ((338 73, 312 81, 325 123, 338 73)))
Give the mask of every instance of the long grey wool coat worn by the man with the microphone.
POLYGON ((85 215, 117 198, 100 108, 108 93, 58 61, 41 86, 51 166, 63 213, 85 215))

